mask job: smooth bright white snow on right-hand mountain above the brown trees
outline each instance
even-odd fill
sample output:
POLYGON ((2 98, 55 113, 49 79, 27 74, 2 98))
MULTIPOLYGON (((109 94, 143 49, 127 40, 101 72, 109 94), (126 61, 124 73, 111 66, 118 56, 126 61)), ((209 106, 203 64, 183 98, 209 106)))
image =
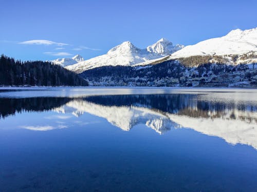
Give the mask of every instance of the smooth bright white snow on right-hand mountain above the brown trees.
POLYGON ((241 55, 251 51, 257 51, 257 28, 244 31, 236 29, 223 37, 200 41, 173 53, 172 58, 194 55, 241 55))

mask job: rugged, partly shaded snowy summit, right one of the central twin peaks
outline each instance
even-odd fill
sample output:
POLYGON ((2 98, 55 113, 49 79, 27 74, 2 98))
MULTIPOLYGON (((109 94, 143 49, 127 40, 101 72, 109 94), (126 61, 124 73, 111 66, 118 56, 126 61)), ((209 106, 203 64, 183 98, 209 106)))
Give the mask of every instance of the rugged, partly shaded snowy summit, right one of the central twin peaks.
POLYGON ((185 46, 180 44, 173 46, 172 42, 170 42, 166 38, 161 38, 155 44, 148 46, 146 50, 148 50, 150 53, 157 53, 162 56, 167 56, 182 49, 183 47, 185 46))

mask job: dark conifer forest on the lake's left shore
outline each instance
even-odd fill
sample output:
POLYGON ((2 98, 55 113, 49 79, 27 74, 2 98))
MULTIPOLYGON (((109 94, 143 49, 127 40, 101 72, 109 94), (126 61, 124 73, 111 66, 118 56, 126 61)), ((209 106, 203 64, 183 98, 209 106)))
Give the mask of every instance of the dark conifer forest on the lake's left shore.
POLYGON ((86 80, 59 65, 1 55, 0 86, 88 86, 86 80))

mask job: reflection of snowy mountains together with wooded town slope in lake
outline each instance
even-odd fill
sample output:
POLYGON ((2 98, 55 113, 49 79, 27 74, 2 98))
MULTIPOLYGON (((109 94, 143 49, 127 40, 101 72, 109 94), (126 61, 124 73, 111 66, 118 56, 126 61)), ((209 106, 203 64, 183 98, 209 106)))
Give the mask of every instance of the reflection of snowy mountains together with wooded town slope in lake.
POLYGON ((196 94, 116 95, 87 97, 67 106, 77 114, 103 117, 125 131, 139 123, 159 134, 184 127, 257 148, 257 108, 246 101, 215 102, 196 94))

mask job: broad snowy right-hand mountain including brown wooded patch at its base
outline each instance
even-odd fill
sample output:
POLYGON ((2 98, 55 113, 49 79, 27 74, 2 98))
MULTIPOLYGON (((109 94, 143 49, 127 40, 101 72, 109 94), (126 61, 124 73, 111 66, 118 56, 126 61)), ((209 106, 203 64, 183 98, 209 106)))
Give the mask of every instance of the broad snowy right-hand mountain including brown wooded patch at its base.
POLYGON ((178 59, 182 65, 191 67, 204 63, 257 63, 257 28, 232 30, 223 37, 200 41, 195 45, 183 47, 170 56, 144 61, 135 66, 156 65, 174 59, 178 59))

